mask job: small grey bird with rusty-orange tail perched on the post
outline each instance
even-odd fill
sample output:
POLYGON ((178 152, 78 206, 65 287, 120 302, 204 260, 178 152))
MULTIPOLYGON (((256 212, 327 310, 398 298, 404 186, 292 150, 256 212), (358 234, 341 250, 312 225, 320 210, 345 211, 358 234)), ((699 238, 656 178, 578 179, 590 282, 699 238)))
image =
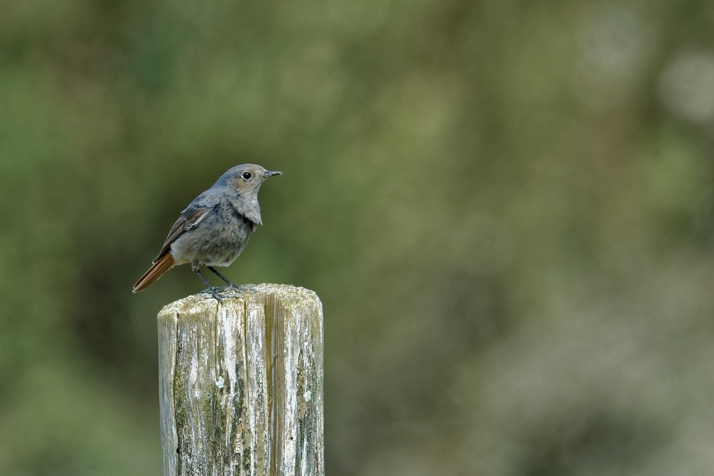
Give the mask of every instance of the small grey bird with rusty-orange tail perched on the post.
POLYGON ((254 163, 229 168, 181 212, 159 255, 136 282, 133 292, 149 288, 174 266, 191 263, 193 272, 220 301, 221 295, 208 283, 200 268, 205 266, 231 287, 237 287, 214 266, 231 265, 256 227, 263 224, 258 191, 263 181, 281 173, 254 163))

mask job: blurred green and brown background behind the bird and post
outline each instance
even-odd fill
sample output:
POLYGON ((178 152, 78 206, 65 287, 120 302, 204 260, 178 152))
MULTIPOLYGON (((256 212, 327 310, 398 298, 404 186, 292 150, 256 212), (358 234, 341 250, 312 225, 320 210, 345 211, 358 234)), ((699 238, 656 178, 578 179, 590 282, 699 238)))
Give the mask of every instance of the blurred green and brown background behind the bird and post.
MULTIPOLYGON (((710 0, 6 0, 0 474, 159 475, 178 213, 316 290, 326 468, 710 475, 710 0)), ((212 279, 212 278, 211 278, 212 279)))

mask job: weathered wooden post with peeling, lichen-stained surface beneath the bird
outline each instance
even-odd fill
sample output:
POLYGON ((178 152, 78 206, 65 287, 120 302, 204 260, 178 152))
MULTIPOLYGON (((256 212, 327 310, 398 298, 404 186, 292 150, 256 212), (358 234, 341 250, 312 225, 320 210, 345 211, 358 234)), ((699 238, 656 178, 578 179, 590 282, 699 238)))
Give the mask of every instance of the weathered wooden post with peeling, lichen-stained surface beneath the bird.
POLYGON ((320 300, 274 284, 223 295, 159 313, 164 476, 324 476, 320 300))

